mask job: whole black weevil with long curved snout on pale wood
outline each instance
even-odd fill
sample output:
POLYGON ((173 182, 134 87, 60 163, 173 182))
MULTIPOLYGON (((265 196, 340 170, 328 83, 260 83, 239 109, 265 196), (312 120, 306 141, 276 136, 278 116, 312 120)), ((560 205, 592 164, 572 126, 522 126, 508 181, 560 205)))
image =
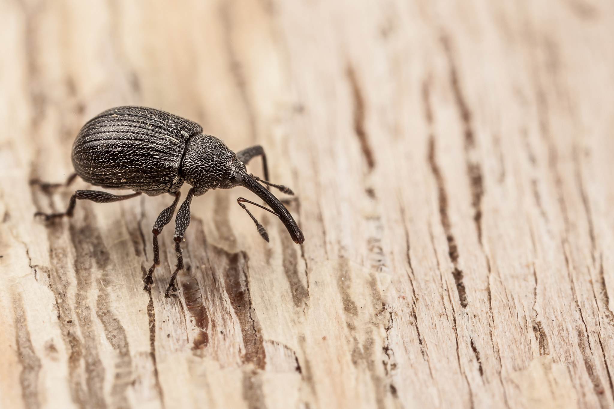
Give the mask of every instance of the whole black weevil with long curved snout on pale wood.
MULTIPOLYGON (((46 215, 38 212, 36 215, 45 216, 45 220, 72 216, 77 199, 109 203, 130 199, 141 193, 148 196, 168 193, 174 196, 173 204, 162 210, 153 225, 153 265, 144 278, 145 289, 149 289, 153 283, 153 270, 160 264, 158 235, 173 217, 181 195, 179 188, 184 182, 192 185, 175 219, 177 268, 166 288, 167 297, 170 291, 176 291, 175 278, 177 272, 184 267, 181 242, 190 224, 190 202, 193 196, 200 196, 211 189, 244 186, 273 209, 273 212, 269 211, 281 219, 295 243, 300 244, 305 240, 303 232, 286 207, 258 183, 293 194, 286 186, 268 183, 266 156, 261 146, 235 154, 221 140, 204 135, 199 124, 168 112, 146 107, 117 107, 100 113, 88 121, 77 135, 72 145, 72 164, 77 175, 85 182, 107 189, 132 189, 135 193, 117 196, 96 190, 77 190, 65 213, 46 215), (262 156, 265 180, 248 175, 245 168, 245 164, 258 155, 262 156)), ((237 201, 249 213, 258 232, 268 242, 262 224, 241 203, 249 201, 243 197, 237 201)))

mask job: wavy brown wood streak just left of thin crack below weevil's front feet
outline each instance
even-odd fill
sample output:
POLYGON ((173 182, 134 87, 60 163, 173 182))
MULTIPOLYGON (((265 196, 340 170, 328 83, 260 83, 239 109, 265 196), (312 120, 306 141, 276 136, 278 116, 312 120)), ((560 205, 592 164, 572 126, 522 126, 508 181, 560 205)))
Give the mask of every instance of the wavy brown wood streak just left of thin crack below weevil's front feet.
POLYGON ((133 381, 132 357, 126 331, 119 319, 111 311, 111 299, 109 291, 108 274, 105 272, 98 281, 98 299, 96 300, 96 316, 103 324, 104 336, 109 344, 117 353, 115 358, 115 374, 113 375, 113 385, 111 387, 112 406, 118 409, 130 408, 130 403, 126 398, 126 389, 133 381), (104 281, 104 285, 103 282, 104 281))

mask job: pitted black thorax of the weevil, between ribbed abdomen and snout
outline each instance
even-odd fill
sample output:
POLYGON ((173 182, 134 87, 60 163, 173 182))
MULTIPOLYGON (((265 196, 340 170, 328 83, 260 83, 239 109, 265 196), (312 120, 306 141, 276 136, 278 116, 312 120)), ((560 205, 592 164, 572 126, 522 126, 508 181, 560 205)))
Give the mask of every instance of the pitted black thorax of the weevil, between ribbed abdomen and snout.
POLYGON ((211 135, 190 137, 181 162, 181 175, 194 187, 195 196, 211 189, 230 189, 246 174, 243 163, 225 143, 211 135))

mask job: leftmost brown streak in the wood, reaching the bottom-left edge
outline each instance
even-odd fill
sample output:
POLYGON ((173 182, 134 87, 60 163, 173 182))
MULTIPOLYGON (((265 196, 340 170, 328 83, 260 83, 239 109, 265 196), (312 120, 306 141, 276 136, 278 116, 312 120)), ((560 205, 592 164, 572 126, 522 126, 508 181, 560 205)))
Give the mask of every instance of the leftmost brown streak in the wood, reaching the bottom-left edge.
POLYGON ((21 364, 19 383, 21 385, 21 397, 26 409, 37 409, 41 407, 39 401, 39 372, 41 372, 41 359, 36 356, 30 332, 28 329, 28 319, 23 307, 21 294, 15 293, 13 296, 13 310, 15 313, 15 345, 17 346, 17 357, 21 364))

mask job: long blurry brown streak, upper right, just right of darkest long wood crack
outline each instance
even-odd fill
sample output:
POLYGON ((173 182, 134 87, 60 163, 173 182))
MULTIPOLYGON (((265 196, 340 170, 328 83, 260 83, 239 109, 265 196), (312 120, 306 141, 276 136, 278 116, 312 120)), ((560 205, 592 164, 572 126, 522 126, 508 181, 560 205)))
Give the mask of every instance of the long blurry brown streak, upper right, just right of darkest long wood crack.
POLYGON ((451 46, 451 40, 446 34, 441 37, 443 48, 446 52, 449 65, 450 83, 456 101, 456 108, 459 112, 463 125, 463 134, 465 139, 465 166, 467 166, 467 175, 471 187, 473 221, 478 232, 478 242, 482 245, 482 197, 484 196, 484 183, 482 177, 482 169, 480 162, 474 157, 477 155, 475 144, 475 132, 473 132, 472 113, 469 110, 465 96, 461 90, 459 74, 456 68, 456 61, 451 46))

